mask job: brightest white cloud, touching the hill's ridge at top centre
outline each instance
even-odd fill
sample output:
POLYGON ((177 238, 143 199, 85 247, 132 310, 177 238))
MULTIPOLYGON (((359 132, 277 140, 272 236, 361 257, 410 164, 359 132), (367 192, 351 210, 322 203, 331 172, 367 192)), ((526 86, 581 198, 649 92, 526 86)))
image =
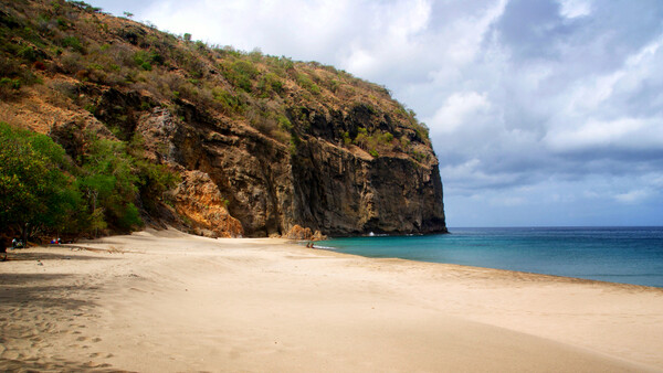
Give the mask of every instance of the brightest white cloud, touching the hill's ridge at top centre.
POLYGON ((359 34, 367 32, 361 21, 368 12, 361 7, 348 0, 165 0, 152 2, 140 17, 209 43, 332 63, 335 50, 356 34, 354 25, 360 25, 359 34))

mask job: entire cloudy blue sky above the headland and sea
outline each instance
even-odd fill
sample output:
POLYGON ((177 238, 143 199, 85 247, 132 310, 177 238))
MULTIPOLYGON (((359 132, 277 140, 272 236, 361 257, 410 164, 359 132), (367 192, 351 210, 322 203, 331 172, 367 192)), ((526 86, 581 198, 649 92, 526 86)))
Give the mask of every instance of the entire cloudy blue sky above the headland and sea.
POLYGON ((450 227, 663 225, 663 1, 87 2, 387 86, 430 128, 450 227))

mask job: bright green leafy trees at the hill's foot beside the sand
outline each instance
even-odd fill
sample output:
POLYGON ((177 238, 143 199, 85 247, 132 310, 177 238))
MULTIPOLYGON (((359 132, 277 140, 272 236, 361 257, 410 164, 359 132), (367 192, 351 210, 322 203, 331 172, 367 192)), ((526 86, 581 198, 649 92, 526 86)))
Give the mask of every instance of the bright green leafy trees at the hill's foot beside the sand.
POLYGON ((143 225, 136 203, 155 209, 179 181, 143 156, 140 140, 88 132, 86 145, 75 164, 50 137, 0 122, 0 228, 24 235, 128 232, 143 225))

